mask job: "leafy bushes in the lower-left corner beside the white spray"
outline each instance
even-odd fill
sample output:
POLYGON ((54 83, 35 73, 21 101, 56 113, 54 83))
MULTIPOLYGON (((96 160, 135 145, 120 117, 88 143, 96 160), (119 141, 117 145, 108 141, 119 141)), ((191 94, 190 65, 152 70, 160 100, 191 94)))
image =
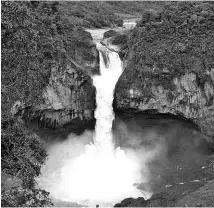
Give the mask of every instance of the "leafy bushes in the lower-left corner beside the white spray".
POLYGON ((49 206, 49 193, 35 187, 35 177, 46 158, 41 139, 25 130, 23 126, 12 125, 1 133, 2 200, 6 207, 49 206), (10 184, 9 180, 15 179, 10 184), (16 182, 17 181, 17 182, 16 182))

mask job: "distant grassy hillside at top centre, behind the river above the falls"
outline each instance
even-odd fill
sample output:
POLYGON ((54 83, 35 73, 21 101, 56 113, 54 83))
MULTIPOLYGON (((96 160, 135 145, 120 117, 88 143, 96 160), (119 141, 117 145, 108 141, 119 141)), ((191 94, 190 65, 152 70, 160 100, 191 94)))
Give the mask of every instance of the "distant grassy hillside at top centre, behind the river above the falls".
POLYGON ((123 19, 141 17, 148 8, 161 9, 161 2, 60 2, 60 12, 63 18, 73 25, 86 28, 101 28, 122 26, 123 19))

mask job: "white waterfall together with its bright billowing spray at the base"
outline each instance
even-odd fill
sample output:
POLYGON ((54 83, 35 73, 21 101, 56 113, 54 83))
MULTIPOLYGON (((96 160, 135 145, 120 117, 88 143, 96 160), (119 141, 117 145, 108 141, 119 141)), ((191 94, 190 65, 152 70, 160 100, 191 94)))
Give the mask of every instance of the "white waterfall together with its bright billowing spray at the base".
MULTIPOLYGON (((135 154, 115 149, 112 139, 113 93, 122 73, 122 62, 116 52, 109 51, 101 44, 97 44, 97 48, 100 51, 101 75, 93 77, 97 91, 93 143, 85 145, 81 154, 66 158, 51 176, 43 169, 39 180, 39 187, 49 191, 51 196, 90 206, 113 205, 127 197, 148 197, 146 192, 134 186, 142 182, 140 161, 135 154), (108 64, 103 55, 108 57, 108 64), (45 183, 47 178, 52 180, 48 185, 45 183)), ((74 149, 72 145, 74 143, 71 143, 70 151, 74 149)))

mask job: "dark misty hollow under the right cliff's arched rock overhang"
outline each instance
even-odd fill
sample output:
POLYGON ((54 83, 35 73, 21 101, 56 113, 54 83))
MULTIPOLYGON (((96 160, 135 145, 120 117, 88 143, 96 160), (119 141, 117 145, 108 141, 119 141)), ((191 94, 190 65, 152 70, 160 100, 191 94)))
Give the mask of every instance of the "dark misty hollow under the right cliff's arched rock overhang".
POLYGON ((139 188, 159 193, 173 184, 211 177, 203 171, 210 164, 213 149, 199 127, 182 115, 120 111, 116 112, 113 132, 116 146, 140 150, 140 157, 155 152, 146 161, 148 182, 139 188))

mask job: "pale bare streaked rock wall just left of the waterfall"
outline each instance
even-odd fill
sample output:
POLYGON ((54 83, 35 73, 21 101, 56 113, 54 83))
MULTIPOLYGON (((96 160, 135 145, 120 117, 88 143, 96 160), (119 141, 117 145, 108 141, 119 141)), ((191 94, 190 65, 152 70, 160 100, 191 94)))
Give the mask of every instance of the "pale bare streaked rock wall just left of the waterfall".
POLYGON ((44 103, 39 107, 41 121, 47 121, 53 127, 77 118, 82 121, 94 118, 95 88, 92 80, 84 69, 70 61, 52 69, 43 97, 44 103))

